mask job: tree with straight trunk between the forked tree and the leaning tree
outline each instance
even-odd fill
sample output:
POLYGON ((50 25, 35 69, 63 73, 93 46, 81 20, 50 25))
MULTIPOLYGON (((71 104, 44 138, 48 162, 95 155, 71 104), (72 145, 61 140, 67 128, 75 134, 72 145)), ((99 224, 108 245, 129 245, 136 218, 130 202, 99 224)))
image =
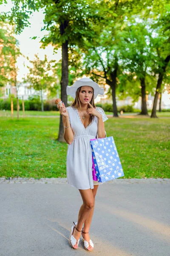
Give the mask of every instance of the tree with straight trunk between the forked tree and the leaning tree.
POLYGON ((147 20, 139 19, 136 15, 126 23, 127 26, 124 29, 125 54, 122 60, 122 76, 119 77, 119 91, 122 96, 127 93, 135 100, 141 96, 142 105, 139 114, 148 115, 146 87, 147 93, 150 93, 154 86, 154 76, 150 72, 154 61, 154 48, 150 43, 151 33, 147 28, 147 20), (122 84, 124 86, 121 86, 122 84))

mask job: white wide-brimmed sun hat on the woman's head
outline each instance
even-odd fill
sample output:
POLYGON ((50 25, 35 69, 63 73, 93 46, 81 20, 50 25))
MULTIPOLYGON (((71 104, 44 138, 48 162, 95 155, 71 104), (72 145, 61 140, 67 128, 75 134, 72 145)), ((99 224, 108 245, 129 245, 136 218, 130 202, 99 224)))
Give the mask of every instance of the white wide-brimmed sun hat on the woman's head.
POLYGON ((104 88, 99 87, 99 85, 94 82, 93 80, 91 80, 90 78, 82 78, 77 80, 72 86, 67 86, 66 88, 66 92, 67 95, 70 95, 71 97, 73 97, 75 99, 76 97, 76 91, 79 87, 81 86, 91 86, 94 88, 94 99, 96 99, 97 95, 103 95, 104 94, 104 88))

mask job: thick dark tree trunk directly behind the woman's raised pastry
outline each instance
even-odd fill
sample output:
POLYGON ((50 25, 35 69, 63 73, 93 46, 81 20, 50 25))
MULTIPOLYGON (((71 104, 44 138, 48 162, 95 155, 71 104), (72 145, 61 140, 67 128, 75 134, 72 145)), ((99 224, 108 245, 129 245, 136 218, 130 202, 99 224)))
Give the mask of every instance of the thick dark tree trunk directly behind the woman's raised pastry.
MULTIPOLYGON (((64 102, 65 107, 67 107, 67 93, 66 87, 68 85, 68 40, 62 44, 62 78, 61 78, 61 100, 64 102)), ((64 137, 64 127, 62 122, 62 115, 60 114, 59 119, 59 135, 58 140, 65 142, 64 137)))

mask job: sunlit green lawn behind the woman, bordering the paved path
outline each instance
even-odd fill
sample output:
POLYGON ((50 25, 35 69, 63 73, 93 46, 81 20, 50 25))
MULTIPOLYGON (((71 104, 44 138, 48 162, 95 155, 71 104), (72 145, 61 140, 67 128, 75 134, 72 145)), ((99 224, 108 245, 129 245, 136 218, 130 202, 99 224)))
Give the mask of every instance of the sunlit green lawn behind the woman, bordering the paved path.
MULTIPOLYGON (((125 176, 170 178, 170 119, 112 118, 125 176)), ((66 177, 67 143, 57 141, 59 118, 0 117, 0 177, 66 177)))

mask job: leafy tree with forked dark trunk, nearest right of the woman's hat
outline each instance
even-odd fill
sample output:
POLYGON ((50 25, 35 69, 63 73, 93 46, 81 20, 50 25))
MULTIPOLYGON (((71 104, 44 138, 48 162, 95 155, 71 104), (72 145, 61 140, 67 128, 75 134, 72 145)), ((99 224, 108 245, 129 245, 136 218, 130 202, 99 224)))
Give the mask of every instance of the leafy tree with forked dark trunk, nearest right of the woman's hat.
MULTIPOLYGON (((116 106, 116 91, 123 88, 121 77, 123 67, 130 59, 131 40, 129 24, 131 16, 135 16, 144 9, 143 1, 99 1, 100 9, 107 10, 105 20, 95 24, 95 32, 99 35, 93 38, 93 43, 86 41, 85 70, 96 81, 103 80, 111 87, 113 99, 113 116, 118 117, 116 106), (139 3, 138 3, 139 2, 139 3), (130 47, 130 49, 129 49, 130 47), (129 58, 127 60, 127 57, 129 58)), ((151 1, 145 1, 145 8, 151 1)), ((134 19, 134 17, 133 17, 134 19)), ((142 77, 141 77, 142 79, 142 77)), ((144 82, 142 80, 142 88, 144 82)))

